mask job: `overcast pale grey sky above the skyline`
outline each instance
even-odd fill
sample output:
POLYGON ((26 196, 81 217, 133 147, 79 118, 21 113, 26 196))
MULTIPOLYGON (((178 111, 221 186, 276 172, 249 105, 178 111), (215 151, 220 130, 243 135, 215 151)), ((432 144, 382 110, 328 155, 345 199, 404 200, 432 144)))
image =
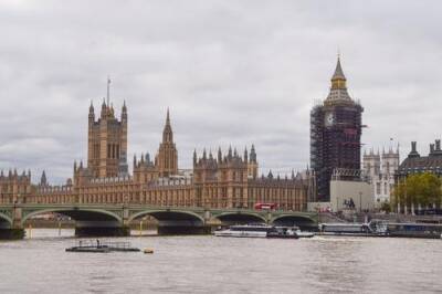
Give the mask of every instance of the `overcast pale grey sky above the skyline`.
POLYGON ((128 106, 129 166, 157 151, 170 107, 180 168, 193 148, 254 143, 264 172, 304 169, 309 111, 338 49, 365 107, 365 148, 394 138, 402 157, 410 140, 427 154, 441 137, 441 11, 403 0, 2 0, 0 167, 72 177, 110 75, 117 114, 128 106))

